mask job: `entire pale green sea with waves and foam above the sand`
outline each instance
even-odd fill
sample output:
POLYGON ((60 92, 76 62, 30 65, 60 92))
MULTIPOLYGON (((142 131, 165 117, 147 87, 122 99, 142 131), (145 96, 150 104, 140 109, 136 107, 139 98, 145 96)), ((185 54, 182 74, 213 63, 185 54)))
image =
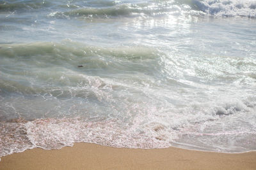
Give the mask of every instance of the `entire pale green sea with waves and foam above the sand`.
POLYGON ((256 1, 0 1, 0 157, 256 150, 255 18, 256 1))

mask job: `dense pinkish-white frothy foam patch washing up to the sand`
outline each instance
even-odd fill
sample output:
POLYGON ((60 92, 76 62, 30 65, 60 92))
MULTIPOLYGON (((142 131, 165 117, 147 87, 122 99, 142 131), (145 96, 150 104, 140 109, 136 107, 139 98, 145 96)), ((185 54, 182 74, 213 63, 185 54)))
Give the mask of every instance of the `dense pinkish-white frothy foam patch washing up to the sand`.
POLYGON ((44 149, 60 149, 63 146, 72 146, 74 142, 97 143, 118 148, 164 148, 170 146, 171 142, 163 137, 161 126, 156 125, 154 134, 150 129, 140 131, 132 125, 120 127, 120 123, 115 119, 86 122, 81 118, 47 118, 28 122, 25 126, 31 143, 44 149))

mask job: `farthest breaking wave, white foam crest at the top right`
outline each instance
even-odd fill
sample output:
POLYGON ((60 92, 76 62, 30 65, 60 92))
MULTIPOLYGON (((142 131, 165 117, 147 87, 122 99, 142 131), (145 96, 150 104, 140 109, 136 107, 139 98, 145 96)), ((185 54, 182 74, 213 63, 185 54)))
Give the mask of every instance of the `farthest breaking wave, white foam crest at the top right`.
MULTIPOLYGON (((111 3, 112 4, 112 3, 111 3)), ((101 8, 86 7, 77 10, 54 12, 54 17, 131 17, 161 15, 212 15, 216 17, 255 18, 255 1, 153 1, 143 4, 116 4, 101 8)))

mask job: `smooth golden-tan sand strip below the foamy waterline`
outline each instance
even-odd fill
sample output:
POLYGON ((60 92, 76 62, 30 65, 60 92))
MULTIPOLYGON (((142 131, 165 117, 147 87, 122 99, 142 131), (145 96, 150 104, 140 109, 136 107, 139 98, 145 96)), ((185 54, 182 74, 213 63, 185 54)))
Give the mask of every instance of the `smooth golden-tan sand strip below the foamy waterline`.
POLYGON ((256 152, 143 150, 76 143, 61 150, 35 148, 7 155, 1 158, 0 169, 256 169, 256 152))

